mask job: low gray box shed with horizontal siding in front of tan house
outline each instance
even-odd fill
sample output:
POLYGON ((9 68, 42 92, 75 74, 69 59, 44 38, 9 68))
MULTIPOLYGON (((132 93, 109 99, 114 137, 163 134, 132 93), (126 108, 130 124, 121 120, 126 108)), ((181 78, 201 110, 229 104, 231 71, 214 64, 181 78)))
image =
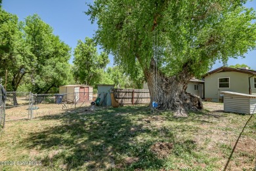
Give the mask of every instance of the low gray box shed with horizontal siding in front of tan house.
POLYGON ((221 94, 224 94, 224 111, 245 114, 256 113, 256 96, 228 91, 223 91, 221 94))

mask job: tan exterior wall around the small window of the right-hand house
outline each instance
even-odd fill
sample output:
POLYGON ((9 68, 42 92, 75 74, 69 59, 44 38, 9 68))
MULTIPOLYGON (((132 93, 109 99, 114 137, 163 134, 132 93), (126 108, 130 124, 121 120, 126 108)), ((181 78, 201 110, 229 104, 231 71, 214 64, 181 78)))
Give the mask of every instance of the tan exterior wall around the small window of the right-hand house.
POLYGON ((211 102, 219 102, 219 100, 222 100, 223 98, 220 96, 220 91, 249 94, 249 77, 250 75, 247 73, 239 73, 235 71, 219 72, 208 75, 205 77, 205 99, 211 102), (226 77, 230 79, 229 88, 219 88, 218 79, 226 77))

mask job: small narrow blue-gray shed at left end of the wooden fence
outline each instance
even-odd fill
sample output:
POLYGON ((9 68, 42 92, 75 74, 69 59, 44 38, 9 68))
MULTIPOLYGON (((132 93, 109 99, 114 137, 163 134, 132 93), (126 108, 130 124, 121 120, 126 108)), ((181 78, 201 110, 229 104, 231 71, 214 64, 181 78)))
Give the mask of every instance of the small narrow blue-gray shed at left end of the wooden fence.
POLYGON ((103 106, 111 106, 110 92, 115 85, 98 85, 98 95, 100 95, 100 104, 103 106))

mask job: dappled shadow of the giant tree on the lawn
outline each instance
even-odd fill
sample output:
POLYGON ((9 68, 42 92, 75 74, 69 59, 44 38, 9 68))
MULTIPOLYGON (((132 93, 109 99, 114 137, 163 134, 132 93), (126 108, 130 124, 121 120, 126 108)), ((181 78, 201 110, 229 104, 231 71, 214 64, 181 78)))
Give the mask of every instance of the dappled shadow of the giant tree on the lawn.
MULTIPOLYGON (((169 130, 164 126, 152 128, 150 121, 145 118, 156 115, 152 115, 148 107, 83 111, 85 111, 83 108, 73 109, 59 115, 39 118, 43 121, 58 120, 62 124, 31 134, 23 144, 29 149, 37 149, 42 153, 48 151, 37 160, 42 161, 46 168, 57 170, 135 170, 137 168, 160 170, 164 167, 165 159, 159 158, 150 150, 153 144, 165 141, 175 143, 173 153, 178 157, 196 147, 192 140, 185 142, 175 140, 175 131, 192 130, 191 126, 186 126, 186 129, 176 126, 176 130, 169 130), (138 140, 138 137, 142 139, 138 140)), ((205 117, 203 113, 187 119, 162 116, 166 120, 184 123, 188 119, 192 121, 205 117)))

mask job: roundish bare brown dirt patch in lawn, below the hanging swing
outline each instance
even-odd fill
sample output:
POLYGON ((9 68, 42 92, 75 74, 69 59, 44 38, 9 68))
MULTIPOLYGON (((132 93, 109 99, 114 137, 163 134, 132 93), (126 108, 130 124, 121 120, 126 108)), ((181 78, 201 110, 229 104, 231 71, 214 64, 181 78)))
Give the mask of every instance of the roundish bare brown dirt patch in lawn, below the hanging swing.
POLYGON ((163 159, 171 154, 173 143, 158 142, 152 145, 150 149, 156 153, 160 159, 163 159))

